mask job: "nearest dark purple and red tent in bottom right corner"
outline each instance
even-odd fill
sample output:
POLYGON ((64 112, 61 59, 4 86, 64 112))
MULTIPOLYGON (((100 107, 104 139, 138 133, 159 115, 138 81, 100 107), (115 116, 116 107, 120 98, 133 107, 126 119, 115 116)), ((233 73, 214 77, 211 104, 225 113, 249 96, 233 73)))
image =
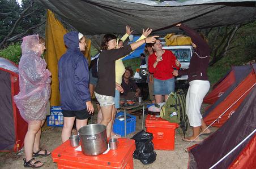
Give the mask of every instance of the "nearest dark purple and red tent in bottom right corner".
POLYGON ((256 86, 219 130, 188 148, 188 168, 256 168, 255 96, 256 86))

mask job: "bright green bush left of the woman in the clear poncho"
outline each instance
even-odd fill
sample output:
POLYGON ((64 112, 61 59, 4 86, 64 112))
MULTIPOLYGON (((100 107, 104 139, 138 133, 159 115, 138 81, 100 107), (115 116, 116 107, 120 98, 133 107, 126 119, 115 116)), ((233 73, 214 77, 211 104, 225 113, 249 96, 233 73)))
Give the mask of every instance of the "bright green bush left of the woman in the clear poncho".
POLYGON ((9 45, 7 48, 0 51, 0 57, 11 60, 16 64, 19 64, 21 56, 22 48, 20 47, 20 43, 9 45))

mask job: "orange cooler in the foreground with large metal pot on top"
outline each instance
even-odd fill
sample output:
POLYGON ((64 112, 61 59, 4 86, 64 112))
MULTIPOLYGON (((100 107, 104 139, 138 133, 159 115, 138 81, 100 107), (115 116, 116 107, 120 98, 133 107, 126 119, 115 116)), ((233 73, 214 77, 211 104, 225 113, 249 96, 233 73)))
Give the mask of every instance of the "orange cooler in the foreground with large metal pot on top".
POLYGON ((58 146, 52 152, 53 162, 58 168, 133 168, 133 152, 135 141, 131 139, 118 139, 116 150, 109 150, 106 154, 87 156, 77 147, 71 147, 69 140, 58 146))

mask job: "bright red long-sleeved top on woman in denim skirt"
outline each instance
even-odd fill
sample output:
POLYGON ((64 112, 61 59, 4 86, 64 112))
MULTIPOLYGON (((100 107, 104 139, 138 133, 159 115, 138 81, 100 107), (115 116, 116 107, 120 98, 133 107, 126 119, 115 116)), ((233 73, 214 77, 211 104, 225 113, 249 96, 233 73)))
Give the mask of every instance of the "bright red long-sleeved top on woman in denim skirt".
POLYGON ((156 79, 167 80, 173 78, 173 68, 177 70, 180 69, 180 66, 176 66, 175 60, 176 57, 169 50, 164 50, 164 54, 162 55, 163 60, 157 63, 156 68, 153 68, 153 64, 156 61, 156 54, 153 53, 148 58, 148 69, 150 73, 153 73, 153 76, 156 79))

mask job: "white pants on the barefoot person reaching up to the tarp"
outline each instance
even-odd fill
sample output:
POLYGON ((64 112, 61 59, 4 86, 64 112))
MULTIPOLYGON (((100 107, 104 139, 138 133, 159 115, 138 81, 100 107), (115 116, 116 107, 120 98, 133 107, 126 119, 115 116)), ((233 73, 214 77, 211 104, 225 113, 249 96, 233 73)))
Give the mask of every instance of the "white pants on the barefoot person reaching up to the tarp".
POLYGON ((186 113, 192 127, 202 126, 200 107, 209 89, 209 81, 194 80, 189 82, 189 90, 186 96, 186 113))

